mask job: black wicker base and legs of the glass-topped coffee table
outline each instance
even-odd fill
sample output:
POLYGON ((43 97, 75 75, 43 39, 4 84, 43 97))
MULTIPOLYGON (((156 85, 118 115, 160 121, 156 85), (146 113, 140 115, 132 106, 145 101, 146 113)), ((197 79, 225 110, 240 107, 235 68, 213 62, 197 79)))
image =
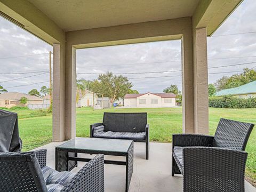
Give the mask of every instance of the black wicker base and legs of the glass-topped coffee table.
MULTIPOLYGON (((79 139, 91 139, 91 138, 79 138, 79 139)), ((94 139, 95 140, 95 139, 94 139)), ((100 139, 102 140, 102 139, 100 139)), ((113 139, 111 139, 113 140, 113 139)), ((117 140, 113 140, 115 142, 117 140)), ((127 140, 126 140, 127 141, 127 140)), ((69 141, 68 141, 69 142, 69 141)), ((95 140, 97 142, 97 139, 95 140)), ((109 140, 108 140, 109 142, 109 140)), ((79 148, 70 148, 58 146, 55 148, 55 169, 57 171, 70 171, 77 166, 77 161, 89 162, 91 158, 81 158, 77 157, 77 153, 83 154, 104 154, 104 155, 113 155, 113 156, 124 156, 126 161, 109 161, 105 160, 105 164, 114 164, 114 165, 125 165, 126 166, 126 182, 125 182, 125 191, 129 191, 129 186, 133 173, 133 141, 131 141, 129 148, 125 152, 121 151, 106 151, 106 150, 93 150, 93 149, 81 149, 79 148)))

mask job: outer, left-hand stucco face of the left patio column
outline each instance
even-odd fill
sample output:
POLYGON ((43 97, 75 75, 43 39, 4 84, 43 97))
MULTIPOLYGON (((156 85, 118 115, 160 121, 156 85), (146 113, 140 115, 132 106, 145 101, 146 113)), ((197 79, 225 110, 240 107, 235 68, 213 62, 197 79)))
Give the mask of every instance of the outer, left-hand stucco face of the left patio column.
POLYGON ((53 44, 52 140, 65 139, 65 44, 53 44))

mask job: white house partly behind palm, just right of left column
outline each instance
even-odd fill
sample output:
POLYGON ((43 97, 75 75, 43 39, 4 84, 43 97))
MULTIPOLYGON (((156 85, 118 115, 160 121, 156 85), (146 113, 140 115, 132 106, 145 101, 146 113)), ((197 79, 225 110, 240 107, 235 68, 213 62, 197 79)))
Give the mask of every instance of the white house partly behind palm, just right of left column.
MULTIPOLYGON (((93 92, 85 90, 83 95, 81 92, 78 92, 79 99, 77 101, 77 107, 92 107, 93 106, 93 92)), ((98 96, 94 94, 94 105, 97 103, 98 96)))

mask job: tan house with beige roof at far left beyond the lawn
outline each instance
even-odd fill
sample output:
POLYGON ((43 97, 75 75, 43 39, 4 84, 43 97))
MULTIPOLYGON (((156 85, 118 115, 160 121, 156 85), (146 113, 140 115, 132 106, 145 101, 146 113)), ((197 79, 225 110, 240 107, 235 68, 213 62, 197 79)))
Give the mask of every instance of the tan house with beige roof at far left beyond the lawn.
POLYGON ((27 95, 18 92, 8 92, 0 94, 0 107, 8 106, 27 106, 28 104, 42 104, 43 99, 36 97, 34 95, 27 95), (28 99, 27 103, 23 105, 20 103, 20 99, 26 97, 28 99))

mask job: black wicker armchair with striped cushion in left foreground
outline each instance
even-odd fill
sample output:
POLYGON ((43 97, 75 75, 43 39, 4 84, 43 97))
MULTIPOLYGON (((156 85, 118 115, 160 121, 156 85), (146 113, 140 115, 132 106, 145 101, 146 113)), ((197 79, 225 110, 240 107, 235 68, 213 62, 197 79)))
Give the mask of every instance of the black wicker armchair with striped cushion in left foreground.
POLYGON ((45 149, 24 153, 0 153, 0 170, 1 191, 104 191, 103 155, 95 156, 75 174, 58 172, 47 167, 45 149), (54 180, 54 177, 57 178, 54 180))

